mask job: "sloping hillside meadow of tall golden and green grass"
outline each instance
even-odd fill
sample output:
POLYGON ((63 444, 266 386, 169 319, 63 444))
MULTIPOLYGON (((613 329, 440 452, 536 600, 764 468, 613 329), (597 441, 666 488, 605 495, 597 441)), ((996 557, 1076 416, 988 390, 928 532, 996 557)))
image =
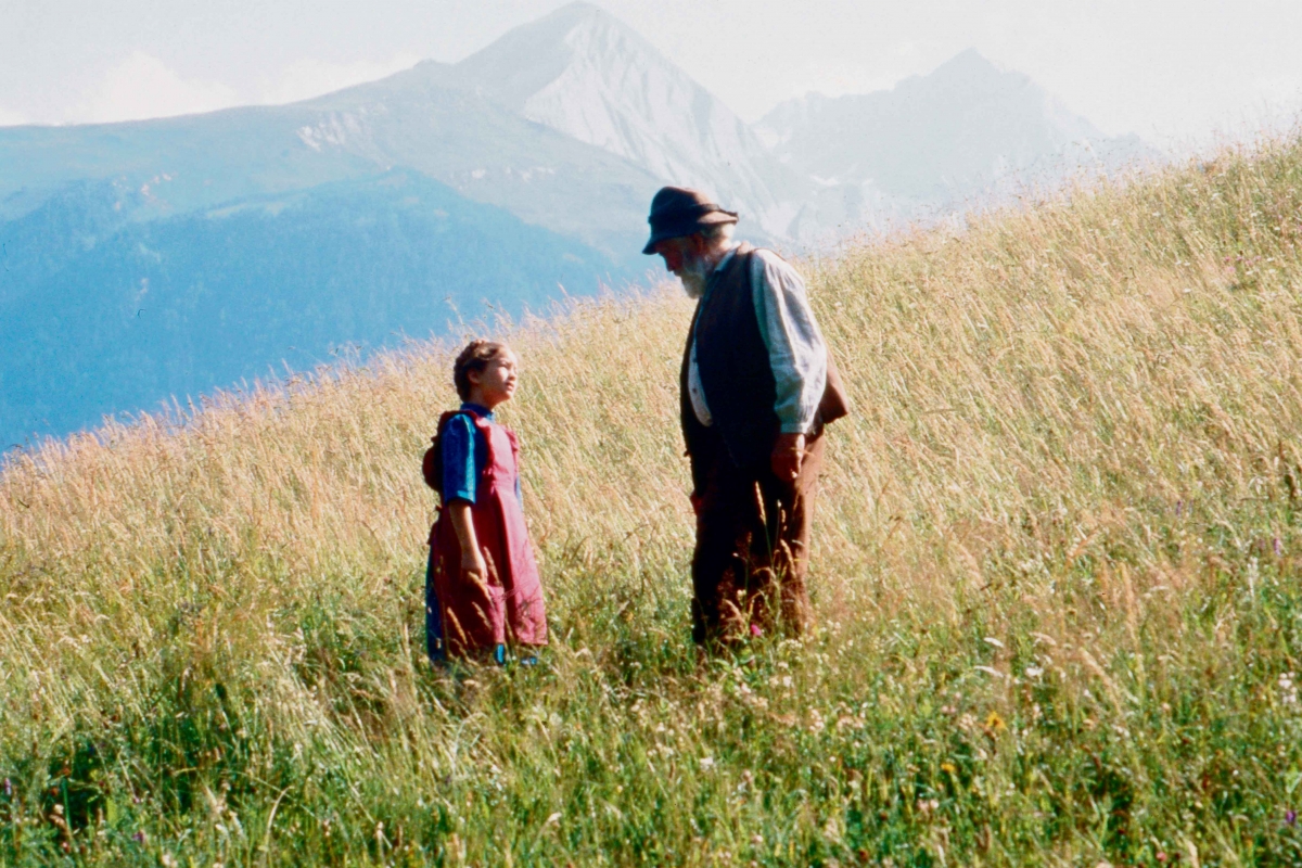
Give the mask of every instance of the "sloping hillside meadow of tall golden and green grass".
POLYGON ((698 658, 676 290, 513 337, 553 645, 432 673, 440 349, 0 476, 0 865, 1297 864, 1302 143, 807 265, 807 642, 698 658))

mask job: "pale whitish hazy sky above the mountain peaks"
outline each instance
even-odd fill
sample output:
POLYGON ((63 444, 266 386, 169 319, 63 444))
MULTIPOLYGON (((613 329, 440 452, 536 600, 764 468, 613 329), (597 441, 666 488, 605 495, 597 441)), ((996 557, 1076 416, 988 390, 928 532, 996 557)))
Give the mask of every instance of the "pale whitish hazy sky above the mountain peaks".
MULTIPOLYGON (((456 61, 562 0, 0 0, 0 125, 290 102, 456 61)), ((1167 146, 1302 109, 1302 0, 596 0, 746 120, 976 47, 1167 146)))

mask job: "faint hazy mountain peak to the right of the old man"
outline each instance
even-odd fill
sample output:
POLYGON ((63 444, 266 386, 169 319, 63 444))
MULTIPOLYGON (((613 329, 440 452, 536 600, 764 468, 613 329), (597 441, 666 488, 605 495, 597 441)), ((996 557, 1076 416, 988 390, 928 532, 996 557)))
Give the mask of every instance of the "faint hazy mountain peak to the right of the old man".
POLYGON ((816 185, 792 234, 934 217, 1151 156, 975 49, 887 91, 789 100, 755 131, 816 185))

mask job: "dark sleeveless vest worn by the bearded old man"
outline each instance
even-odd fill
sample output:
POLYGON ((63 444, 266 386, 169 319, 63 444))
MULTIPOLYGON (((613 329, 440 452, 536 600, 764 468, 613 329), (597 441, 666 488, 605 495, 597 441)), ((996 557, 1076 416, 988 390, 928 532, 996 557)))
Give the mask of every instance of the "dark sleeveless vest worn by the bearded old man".
MULTIPOLYGON (((710 439, 708 431, 697 419, 687 393, 687 370, 691 364, 691 342, 697 341, 697 367, 706 403, 713 418, 728 455, 737 467, 766 466, 777 441, 780 423, 773 402, 777 387, 768 360, 768 347, 755 316, 754 288, 751 286, 751 256, 755 249, 741 245, 728 264, 710 276, 704 298, 697 305, 697 314, 687 332, 687 346, 682 357, 680 376, 682 435, 687 453, 703 457, 710 439)), ((846 414, 841 377, 828 350, 828 377, 819 414, 811 437, 823 426, 846 414)), ((695 470, 695 463, 694 470, 695 470)), ((697 480, 698 488, 703 480, 697 480)))

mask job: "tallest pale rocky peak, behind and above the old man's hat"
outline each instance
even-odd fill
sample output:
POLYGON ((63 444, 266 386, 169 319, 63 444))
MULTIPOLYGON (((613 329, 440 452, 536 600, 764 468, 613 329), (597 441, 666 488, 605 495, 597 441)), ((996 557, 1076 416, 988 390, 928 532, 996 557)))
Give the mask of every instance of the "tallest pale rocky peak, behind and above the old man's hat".
POLYGON ((750 128, 646 39, 587 3, 517 27, 456 65, 505 107, 617 154, 669 183, 712 191, 773 236, 802 181, 750 128))

